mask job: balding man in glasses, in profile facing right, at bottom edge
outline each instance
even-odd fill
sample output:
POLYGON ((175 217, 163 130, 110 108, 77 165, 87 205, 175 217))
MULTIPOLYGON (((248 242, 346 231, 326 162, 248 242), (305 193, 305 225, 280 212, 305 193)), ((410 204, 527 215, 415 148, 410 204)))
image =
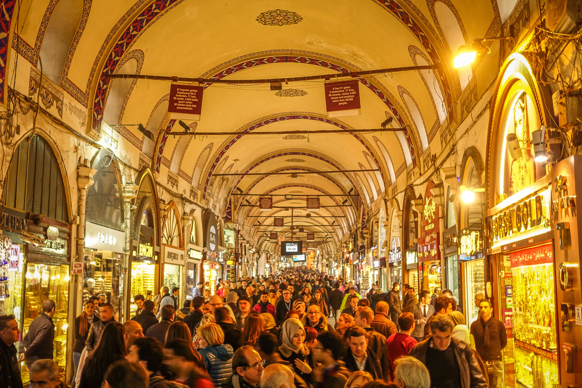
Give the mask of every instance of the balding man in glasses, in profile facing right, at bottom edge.
POLYGON ((232 356, 232 375, 222 388, 256 388, 261 382, 265 360, 252 346, 240 347, 232 356))

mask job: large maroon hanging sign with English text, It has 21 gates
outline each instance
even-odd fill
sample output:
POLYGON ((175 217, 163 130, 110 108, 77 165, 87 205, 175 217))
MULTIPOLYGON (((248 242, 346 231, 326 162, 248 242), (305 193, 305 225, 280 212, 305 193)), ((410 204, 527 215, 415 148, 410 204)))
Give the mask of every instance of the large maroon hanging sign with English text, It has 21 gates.
POLYGON ((324 88, 328 117, 357 116, 360 114, 358 80, 327 82, 324 88))

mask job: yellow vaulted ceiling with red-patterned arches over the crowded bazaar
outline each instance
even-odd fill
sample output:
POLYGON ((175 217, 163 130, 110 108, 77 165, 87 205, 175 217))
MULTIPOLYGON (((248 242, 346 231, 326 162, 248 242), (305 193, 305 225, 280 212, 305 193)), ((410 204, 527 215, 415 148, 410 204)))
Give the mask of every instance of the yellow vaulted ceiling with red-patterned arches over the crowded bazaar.
MULTIPOLYGON (((23 0, 22 7, 28 4, 23 0)), ((264 225, 274 215, 290 216, 281 208, 258 212, 243 206, 257 201, 248 194, 338 195, 321 197, 320 211, 312 212, 318 218, 297 210, 297 220, 313 224, 304 227, 318 237, 339 241, 400 174, 419 164, 439 127, 455 119, 453 101, 466 80, 448 65, 456 44, 450 37, 467 42, 495 35, 499 20, 496 1, 35 0, 12 45, 33 66, 43 53, 57 55, 64 63, 59 86, 88 109, 88 131, 98 134, 104 120, 115 126, 133 152, 151 158, 159 176, 191 184, 194 199, 218 204, 221 216, 234 211, 233 221, 249 229, 247 236, 264 240, 255 221, 264 225), (67 28, 51 19, 63 17, 63 5, 74 8, 67 28), (448 15, 446 25, 440 15, 448 15), (458 25, 451 25, 455 20, 458 25), (70 41, 69 49, 42 47, 44 35, 54 37, 55 31, 67 35, 60 41, 70 41), (206 84, 201 119, 186 124, 194 132, 232 132, 208 137, 172 136, 182 127, 167 112, 168 82, 107 76, 272 79, 417 64, 435 69, 358 77, 360 115, 341 119, 328 118, 322 81, 283 84, 281 91, 268 84, 206 84), (389 117, 404 130, 249 135, 375 129, 389 117), (138 123, 155 134, 153 144, 138 123), (306 173, 361 169, 375 171, 306 173), (282 172, 289 175, 273 175, 282 172), (220 175, 226 173, 244 175, 220 175), (250 175, 255 173, 264 175, 250 175), (337 227, 324 226, 332 224, 337 227)), ((52 38, 44 42, 55 44, 52 38)), ((54 73, 51 80, 58 84, 58 69, 54 73)), ((289 207, 301 202, 275 198, 289 207)))

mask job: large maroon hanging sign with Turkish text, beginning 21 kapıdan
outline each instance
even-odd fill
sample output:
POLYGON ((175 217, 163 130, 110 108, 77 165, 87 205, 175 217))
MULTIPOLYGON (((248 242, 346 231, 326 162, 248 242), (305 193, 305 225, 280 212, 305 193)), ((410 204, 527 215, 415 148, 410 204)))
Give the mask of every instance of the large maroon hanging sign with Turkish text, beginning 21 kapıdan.
POLYGON ((173 83, 170 86, 168 113, 172 119, 200 120, 203 86, 173 83))

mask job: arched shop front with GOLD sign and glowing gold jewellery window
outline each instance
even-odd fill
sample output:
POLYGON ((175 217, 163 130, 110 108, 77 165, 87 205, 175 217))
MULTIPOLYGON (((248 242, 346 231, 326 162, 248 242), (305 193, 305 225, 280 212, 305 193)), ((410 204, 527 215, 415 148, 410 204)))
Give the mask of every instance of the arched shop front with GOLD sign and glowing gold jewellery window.
POLYGON ((503 350, 505 387, 553 387, 560 382, 559 365, 565 355, 557 325, 554 253, 559 242, 549 219, 550 166, 534 158, 534 149, 528 146, 537 136, 534 131, 548 122, 530 69, 519 54, 510 55, 502 67, 485 174, 493 282, 492 287, 486 283, 485 291, 508 333, 503 350))

